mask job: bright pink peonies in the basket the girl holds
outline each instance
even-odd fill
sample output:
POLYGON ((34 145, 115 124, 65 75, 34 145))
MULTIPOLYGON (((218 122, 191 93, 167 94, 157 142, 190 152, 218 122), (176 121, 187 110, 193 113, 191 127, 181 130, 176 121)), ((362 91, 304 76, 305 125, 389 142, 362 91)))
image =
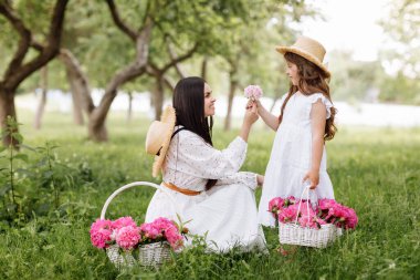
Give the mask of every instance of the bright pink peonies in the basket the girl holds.
POLYGON ((338 228, 354 229, 357 225, 356 211, 343 206, 334 199, 319 199, 316 209, 313 209, 309 200, 300 200, 291 196, 285 199, 275 197, 269 203, 269 211, 280 222, 297 222, 302 227, 321 228, 322 225, 333 224, 338 228))

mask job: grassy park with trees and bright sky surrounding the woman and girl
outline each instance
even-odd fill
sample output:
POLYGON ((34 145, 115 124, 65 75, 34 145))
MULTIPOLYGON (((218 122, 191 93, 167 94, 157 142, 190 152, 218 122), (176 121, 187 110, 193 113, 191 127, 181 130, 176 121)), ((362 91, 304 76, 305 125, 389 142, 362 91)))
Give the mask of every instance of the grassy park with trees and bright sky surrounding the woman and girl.
MULTIPOLYGON (((410 0, 0 0, 0 277, 419 279, 419 17, 410 0), (160 270, 113 268, 90 225, 116 188, 159 183, 144 143, 176 82, 199 75, 212 86, 223 148, 246 85, 260 84, 279 113, 288 81, 274 48, 300 34, 327 49, 338 108, 328 173, 357 229, 292 260, 266 229, 269 255, 198 248, 160 270)), ((264 174, 273 138, 254 125, 243 170, 264 174)), ((151 195, 122 194, 109 218, 141 222, 151 195)))

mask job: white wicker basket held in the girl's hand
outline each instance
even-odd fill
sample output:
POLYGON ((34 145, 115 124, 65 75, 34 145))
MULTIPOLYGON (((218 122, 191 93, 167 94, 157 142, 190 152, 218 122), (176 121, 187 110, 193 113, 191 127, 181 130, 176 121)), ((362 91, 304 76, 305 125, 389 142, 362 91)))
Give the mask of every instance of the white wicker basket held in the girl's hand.
MULTIPOLYGON (((307 193, 307 200, 309 186, 305 187, 302 193, 300 206, 297 212, 301 211, 302 197, 307 193)), ((307 207, 308 204, 306 205, 307 207)), ((342 236, 340 228, 332 224, 321 225, 321 229, 302 227, 297 224, 297 217, 295 222, 279 222, 279 240, 284 245, 298 245, 315 248, 325 248, 329 242, 334 241, 338 236, 342 236)))

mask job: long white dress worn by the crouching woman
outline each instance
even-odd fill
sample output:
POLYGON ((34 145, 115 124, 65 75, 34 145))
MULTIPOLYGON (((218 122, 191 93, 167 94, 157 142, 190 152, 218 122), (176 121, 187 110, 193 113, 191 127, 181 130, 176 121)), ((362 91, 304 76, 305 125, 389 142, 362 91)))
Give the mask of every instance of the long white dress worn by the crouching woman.
MULTIPOLYGON (((189 231, 206 235, 212 250, 227 251, 234 246, 243 250, 265 248, 254 196, 256 175, 239 172, 246 147, 248 144, 237 137, 225 149, 218 151, 186 129, 176 134, 170 142, 162 168, 164 182, 202 193, 187 196, 166 189, 179 207, 182 221, 191 220, 186 225, 189 231), (218 179, 218 183, 204 191, 208 179, 218 179)), ((177 220, 171 199, 161 190, 157 190, 151 198, 146 222, 158 217, 177 220)))

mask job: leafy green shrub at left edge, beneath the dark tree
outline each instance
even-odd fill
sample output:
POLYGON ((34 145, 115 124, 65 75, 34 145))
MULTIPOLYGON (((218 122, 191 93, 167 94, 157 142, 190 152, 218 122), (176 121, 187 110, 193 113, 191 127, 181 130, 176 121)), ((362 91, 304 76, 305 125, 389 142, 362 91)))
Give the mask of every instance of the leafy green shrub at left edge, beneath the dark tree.
POLYGON ((18 141, 20 151, 13 145, 0 151, 1 166, 7 166, 0 168, 0 222, 19 227, 35 217, 66 216, 73 206, 62 199, 62 193, 69 196, 76 186, 88 187, 92 170, 86 163, 77 167, 61 163, 57 146, 49 142, 36 148, 23 145, 18 125, 8 118, 7 133, 18 141))

